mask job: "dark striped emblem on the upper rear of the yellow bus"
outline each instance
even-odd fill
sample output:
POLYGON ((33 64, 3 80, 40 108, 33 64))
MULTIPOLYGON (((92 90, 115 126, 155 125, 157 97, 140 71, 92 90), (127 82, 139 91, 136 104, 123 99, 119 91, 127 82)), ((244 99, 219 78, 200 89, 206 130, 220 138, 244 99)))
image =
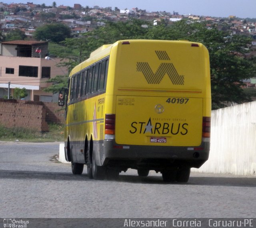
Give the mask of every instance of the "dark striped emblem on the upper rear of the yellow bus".
MULTIPOLYGON (((166 51, 155 51, 158 59, 169 61, 170 57, 166 51)), ((137 71, 142 72, 148 84, 160 84, 167 74, 173 85, 184 85, 184 75, 179 75, 172 63, 161 63, 156 73, 153 73, 147 62, 137 62, 137 71)))

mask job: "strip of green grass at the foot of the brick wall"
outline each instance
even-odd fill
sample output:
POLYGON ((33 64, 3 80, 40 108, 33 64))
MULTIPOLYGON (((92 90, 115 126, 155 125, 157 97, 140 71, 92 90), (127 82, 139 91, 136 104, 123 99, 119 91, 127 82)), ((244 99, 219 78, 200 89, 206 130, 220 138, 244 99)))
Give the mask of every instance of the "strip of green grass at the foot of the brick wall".
POLYGON ((0 141, 20 142, 62 142, 64 127, 59 124, 48 124, 49 132, 38 132, 26 128, 4 128, 0 126, 0 141))

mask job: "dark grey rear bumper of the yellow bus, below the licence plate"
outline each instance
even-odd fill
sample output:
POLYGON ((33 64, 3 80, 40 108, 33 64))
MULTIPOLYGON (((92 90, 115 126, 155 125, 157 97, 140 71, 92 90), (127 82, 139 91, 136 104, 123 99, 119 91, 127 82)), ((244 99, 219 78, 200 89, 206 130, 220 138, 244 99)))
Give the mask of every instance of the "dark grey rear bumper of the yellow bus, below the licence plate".
POLYGON ((116 163, 135 166, 140 163, 159 163, 159 165, 173 164, 199 168, 208 160, 209 151, 210 142, 202 142, 198 147, 170 147, 118 145, 114 140, 104 140, 102 165, 109 165, 116 161, 116 163))

